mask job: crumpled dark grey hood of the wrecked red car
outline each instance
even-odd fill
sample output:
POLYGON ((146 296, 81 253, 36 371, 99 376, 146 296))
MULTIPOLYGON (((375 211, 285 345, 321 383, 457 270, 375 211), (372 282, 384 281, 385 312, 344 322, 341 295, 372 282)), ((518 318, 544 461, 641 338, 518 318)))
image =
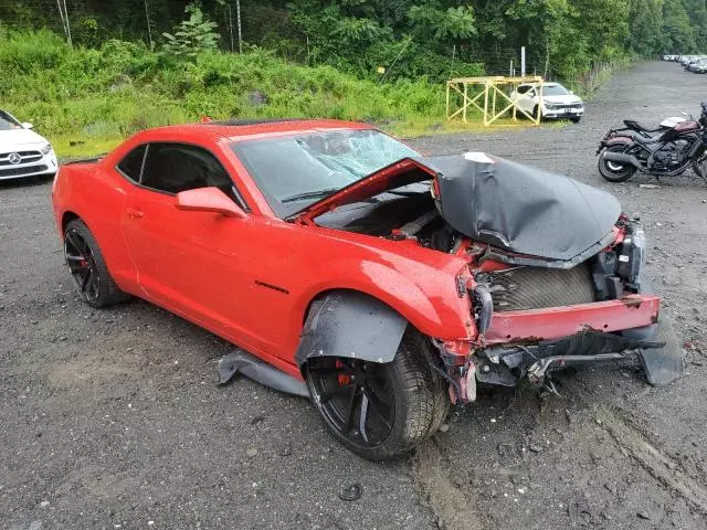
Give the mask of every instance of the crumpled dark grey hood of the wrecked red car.
POLYGON ((585 259, 621 214, 610 193, 503 158, 469 152, 416 161, 437 173, 437 206, 454 230, 518 254, 585 259))

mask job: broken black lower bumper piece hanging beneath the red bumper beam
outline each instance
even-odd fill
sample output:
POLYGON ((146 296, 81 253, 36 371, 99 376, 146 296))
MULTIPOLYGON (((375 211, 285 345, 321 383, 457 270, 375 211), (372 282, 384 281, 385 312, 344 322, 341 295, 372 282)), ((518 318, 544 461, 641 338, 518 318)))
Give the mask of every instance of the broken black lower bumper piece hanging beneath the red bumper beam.
POLYGON ((532 344, 488 347, 477 353, 476 379, 481 383, 503 386, 515 386, 523 379, 540 384, 555 370, 629 360, 636 356, 651 384, 668 384, 683 372, 679 348, 676 352, 665 341, 587 330, 532 344))

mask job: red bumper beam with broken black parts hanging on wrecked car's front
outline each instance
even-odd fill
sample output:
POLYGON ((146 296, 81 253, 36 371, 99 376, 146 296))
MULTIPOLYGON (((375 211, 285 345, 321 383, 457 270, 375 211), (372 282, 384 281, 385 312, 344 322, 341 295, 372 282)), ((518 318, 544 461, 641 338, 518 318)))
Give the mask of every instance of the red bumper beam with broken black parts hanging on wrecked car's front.
MULTIPOLYGON (((453 392, 474 401, 476 383, 542 384, 556 370, 637 359, 651 384, 665 385, 684 371, 683 351, 668 319, 658 321, 659 298, 618 300, 494 312, 485 342, 456 367, 453 392)), ((549 383, 551 386, 551 383, 549 383)))

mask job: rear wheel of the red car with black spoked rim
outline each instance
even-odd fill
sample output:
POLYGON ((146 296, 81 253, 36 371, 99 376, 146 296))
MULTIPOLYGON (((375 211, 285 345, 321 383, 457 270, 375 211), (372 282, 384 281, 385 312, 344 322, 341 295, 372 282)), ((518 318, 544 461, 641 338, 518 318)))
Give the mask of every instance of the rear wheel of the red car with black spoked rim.
POLYGON ((108 307, 128 298, 113 280, 96 239, 78 219, 64 231, 64 257, 78 296, 91 307, 108 307))

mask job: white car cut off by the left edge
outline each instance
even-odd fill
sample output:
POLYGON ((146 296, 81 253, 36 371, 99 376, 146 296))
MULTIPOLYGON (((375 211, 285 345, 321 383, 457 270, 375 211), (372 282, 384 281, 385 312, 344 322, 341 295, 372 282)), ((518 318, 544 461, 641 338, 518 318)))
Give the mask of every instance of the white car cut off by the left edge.
POLYGON ((0 109, 0 180, 50 177, 56 173, 56 155, 46 138, 0 109))

